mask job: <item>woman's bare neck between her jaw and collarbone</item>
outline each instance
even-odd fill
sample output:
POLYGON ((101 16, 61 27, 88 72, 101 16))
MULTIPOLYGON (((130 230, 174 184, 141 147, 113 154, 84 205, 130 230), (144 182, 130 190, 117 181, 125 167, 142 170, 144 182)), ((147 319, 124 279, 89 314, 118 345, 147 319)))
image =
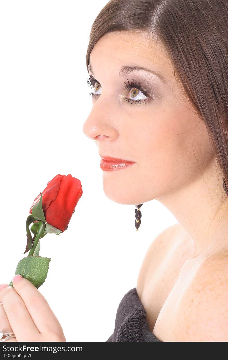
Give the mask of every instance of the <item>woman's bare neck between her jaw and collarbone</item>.
POLYGON ((216 174, 215 168, 214 163, 194 181, 156 199, 173 213, 192 238, 193 257, 228 250, 228 201, 223 175, 216 174))

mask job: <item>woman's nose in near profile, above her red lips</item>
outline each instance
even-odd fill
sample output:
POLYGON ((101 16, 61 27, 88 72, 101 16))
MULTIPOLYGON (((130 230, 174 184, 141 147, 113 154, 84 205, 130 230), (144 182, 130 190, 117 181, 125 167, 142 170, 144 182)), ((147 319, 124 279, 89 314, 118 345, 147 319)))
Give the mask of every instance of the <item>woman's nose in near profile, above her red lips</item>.
MULTIPOLYGON (((98 103, 96 104, 98 105, 98 103)), ((82 131, 84 134, 95 141, 113 141, 118 137, 118 131, 115 127, 116 113, 104 110, 100 111, 100 106, 94 106, 84 122, 82 131)))

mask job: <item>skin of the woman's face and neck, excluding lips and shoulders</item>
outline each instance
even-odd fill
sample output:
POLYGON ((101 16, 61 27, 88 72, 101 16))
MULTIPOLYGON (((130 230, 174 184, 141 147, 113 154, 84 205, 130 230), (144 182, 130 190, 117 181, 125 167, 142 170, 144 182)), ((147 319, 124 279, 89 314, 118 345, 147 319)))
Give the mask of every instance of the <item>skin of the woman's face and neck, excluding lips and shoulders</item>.
POLYGON ((124 170, 102 171, 106 196, 132 205, 157 199, 191 235, 196 253, 228 234, 223 177, 205 123, 188 103, 164 48, 144 32, 111 32, 95 44, 90 64, 101 87, 99 98, 91 100, 84 134, 100 154, 135 162, 124 170), (156 71, 165 84, 145 71, 121 78, 123 65, 156 71), (124 90, 124 82, 133 78, 140 78, 153 101, 125 102, 130 91, 124 90))

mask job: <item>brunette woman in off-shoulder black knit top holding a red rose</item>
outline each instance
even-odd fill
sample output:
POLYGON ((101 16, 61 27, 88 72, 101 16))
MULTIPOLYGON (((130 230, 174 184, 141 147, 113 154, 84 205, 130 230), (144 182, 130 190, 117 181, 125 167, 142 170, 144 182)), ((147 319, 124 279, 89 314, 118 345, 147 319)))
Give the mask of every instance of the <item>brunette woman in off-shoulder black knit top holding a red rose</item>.
MULTIPOLYGON (((228 341, 227 29, 227 1, 211 0, 112 0, 93 23, 83 131, 130 162, 101 160, 104 192, 138 211, 157 199, 179 222, 153 240, 107 341, 228 341)), ((6 341, 66 341, 28 280, 0 301, 6 341)))

